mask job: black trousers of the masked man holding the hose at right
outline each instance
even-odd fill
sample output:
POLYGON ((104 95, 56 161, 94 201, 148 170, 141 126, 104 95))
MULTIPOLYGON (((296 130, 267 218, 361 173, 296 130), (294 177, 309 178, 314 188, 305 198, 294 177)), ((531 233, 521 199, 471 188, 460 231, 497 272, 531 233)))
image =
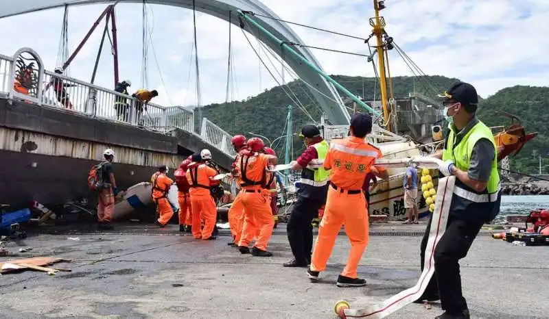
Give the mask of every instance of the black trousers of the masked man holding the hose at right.
MULTIPOLYGON (((432 216, 421 240, 421 270, 425 260, 425 248, 429 240, 432 216)), ((448 218, 446 231, 434 249, 434 276, 429 282, 421 299, 438 299, 442 309, 449 314, 462 314, 467 308, 461 290, 459 259, 467 256, 471 244, 478 235, 482 224, 475 224, 456 218, 448 218)))

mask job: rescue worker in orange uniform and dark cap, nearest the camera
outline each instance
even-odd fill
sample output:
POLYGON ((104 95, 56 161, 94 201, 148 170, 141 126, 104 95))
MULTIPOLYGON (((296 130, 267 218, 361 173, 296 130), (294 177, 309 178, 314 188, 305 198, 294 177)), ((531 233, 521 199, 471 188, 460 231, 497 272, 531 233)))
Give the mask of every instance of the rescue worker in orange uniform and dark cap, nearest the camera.
POLYGON ((330 186, 311 266, 307 270, 307 275, 312 282, 318 281, 319 272, 326 269, 331 249, 344 224, 345 233, 351 241, 351 251, 347 265, 338 276, 337 285, 338 287, 366 285, 366 280, 359 279, 356 271, 369 240, 368 213, 362 183, 370 171, 382 179, 388 179, 385 168, 372 166, 375 159, 382 157, 382 152, 364 140, 371 130, 371 116, 357 113, 351 118, 349 128, 351 136, 331 141, 324 161, 324 168, 331 169, 330 186))

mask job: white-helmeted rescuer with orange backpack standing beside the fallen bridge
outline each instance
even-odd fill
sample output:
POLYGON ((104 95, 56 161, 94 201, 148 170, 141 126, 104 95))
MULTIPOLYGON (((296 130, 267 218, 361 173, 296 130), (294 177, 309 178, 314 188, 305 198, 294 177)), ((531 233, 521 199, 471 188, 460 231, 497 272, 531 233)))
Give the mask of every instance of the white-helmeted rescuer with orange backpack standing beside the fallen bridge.
POLYGON ((107 230, 113 229, 110 226, 110 220, 115 212, 115 196, 118 194, 112 164, 115 160, 115 151, 106 149, 103 152, 103 157, 105 157, 105 161, 102 162, 101 174, 105 183, 104 188, 99 191, 97 199, 97 221, 99 222, 97 229, 107 230))

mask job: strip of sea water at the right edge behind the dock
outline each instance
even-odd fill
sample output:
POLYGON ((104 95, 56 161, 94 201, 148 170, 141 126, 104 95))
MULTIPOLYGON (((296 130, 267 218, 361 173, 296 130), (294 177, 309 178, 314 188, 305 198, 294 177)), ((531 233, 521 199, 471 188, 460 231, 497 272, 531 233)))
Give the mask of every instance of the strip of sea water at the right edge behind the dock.
POLYGON ((507 215, 528 215, 537 208, 549 209, 549 195, 502 196, 500 214, 494 222, 504 222, 507 215))

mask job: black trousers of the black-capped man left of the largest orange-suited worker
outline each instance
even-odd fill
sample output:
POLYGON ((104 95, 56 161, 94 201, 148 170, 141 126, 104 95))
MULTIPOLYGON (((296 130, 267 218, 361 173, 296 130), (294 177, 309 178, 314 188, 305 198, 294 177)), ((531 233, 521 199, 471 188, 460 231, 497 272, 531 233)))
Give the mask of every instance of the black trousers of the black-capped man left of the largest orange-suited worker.
POLYGON ((313 218, 318 217, 318 209, 325 199, 309 199, 298 196, 288 220, 288 242, 296 261, 309 262, 313 250, 313 218))

